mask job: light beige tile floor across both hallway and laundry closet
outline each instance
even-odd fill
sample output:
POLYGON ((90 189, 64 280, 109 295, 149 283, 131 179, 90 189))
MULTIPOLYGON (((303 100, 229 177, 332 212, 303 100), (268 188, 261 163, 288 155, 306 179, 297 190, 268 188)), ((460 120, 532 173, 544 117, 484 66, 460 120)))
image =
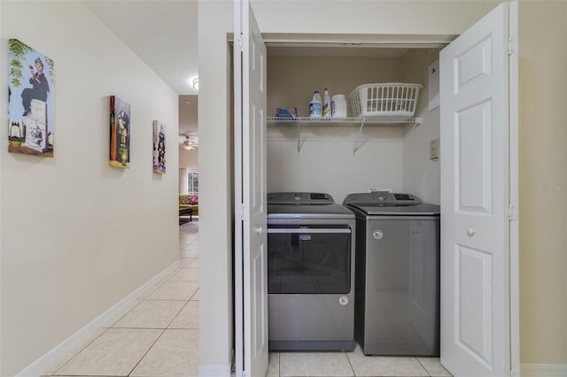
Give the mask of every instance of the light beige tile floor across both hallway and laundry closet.
MULTIPOLYGON (((180 266, 44 375, 198 375, 198 219, 179 227, 180 266)), ((439 358, 270 352, 272 376, 450 376, 439 358)))

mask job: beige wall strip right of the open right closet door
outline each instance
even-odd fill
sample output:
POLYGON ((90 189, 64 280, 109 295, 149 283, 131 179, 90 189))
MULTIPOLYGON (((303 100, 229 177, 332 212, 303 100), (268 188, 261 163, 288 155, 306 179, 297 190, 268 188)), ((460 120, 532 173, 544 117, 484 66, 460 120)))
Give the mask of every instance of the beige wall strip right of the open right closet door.
POLYGON ((519 4, 521 362, 567 365, 567 3, 519 4))

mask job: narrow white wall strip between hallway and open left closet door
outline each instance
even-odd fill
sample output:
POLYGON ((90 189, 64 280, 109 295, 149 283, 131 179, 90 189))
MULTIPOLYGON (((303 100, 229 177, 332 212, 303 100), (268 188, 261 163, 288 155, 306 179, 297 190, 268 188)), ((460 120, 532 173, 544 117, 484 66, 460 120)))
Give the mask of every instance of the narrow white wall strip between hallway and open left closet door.
POLYGON ((233 7, 232 1, 198 3, 199 374, 226 376, 233 350, 232 61, 227 37, 233 7))

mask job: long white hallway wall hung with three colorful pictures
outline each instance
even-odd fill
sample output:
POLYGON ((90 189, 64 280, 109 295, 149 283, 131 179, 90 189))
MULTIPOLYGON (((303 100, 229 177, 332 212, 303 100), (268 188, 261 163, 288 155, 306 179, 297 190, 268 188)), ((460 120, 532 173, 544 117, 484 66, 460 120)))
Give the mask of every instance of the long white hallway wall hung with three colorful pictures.
MULTIPOLYGON (((55 157, 0 132, 2 354, 14 375, 178 258, 177 149, 151 173, 152 120, 177 135, 177 95, 79 2, 3 1, 18 38, 55 61, 55 157), (109 96, 131 104, 131 167, 108 166, 109 96)), ((7 91, 0 90, 0 103, 7 91)), ((5 116, 0 125, 6 129, 5 116)))

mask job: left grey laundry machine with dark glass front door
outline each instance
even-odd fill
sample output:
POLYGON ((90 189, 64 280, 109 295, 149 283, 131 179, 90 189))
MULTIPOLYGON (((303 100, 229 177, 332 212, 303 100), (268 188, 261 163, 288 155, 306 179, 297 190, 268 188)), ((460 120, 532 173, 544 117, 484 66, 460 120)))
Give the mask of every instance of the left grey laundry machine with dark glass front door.
POLYGON ((268 194, 270 350, 353 350, 354 227, 328 194, 268 194))

